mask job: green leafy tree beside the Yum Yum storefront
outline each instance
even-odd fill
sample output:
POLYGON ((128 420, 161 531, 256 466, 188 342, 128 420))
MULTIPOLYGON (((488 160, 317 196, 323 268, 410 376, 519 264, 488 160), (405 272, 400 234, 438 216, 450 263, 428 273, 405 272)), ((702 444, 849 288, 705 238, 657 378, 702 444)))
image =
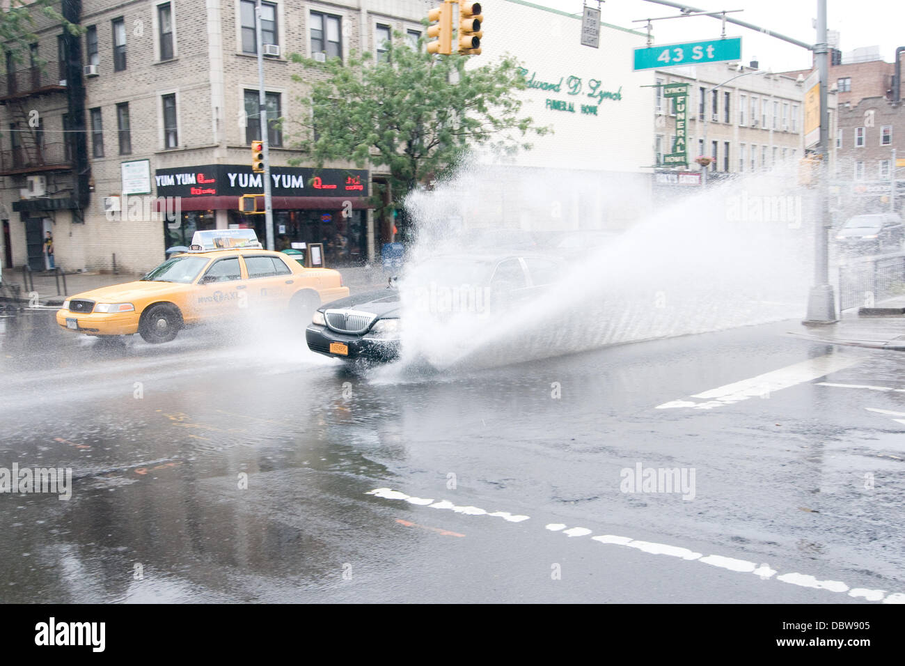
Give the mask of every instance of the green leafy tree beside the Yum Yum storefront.
MULTIPOLYGON (((298 122, 300 148, 317 166, 348 160, 386 170, 395 208, 419 184, 455 169, 471 147, 511 154, 530 148, 530 134, 549 131, 519 115, 526 82, 514 58, 466 68, 469 56, 433 55, 395 36, 376 62, 370 53, 346 63, 292 56, 305 65, 295 80, 310 87, 300 98, 308 111, 298 122)), ((377 196, 375 204, 382 208, 377 196)))

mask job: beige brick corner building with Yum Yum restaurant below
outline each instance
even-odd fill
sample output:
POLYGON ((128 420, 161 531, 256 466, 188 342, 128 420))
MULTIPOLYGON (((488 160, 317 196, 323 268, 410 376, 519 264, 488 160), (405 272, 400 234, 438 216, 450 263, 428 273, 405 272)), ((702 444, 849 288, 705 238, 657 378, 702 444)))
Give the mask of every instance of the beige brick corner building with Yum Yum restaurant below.
MULTIPOLYGON (((305 116, 291 53, 346 58, 391 31, 416 40, 426 0, 262 3, 264 75, 277 248, 323 242, 328 262, 373 260, 392 239, 369 195, 381 175, 348 163, 305 166, 305 116), (285 121, 280 127, 277 118, 285 121), (313 176, 319 179, 311 181, 313 176)), ((0 81, 0 217, 7 267, 43 269, 52 233, 67 270, 139 272, 195 230, 256 228, 238 210, 262 192, 251 0, 67 0, 85 34, 36 14, 39 41, 0 81)))

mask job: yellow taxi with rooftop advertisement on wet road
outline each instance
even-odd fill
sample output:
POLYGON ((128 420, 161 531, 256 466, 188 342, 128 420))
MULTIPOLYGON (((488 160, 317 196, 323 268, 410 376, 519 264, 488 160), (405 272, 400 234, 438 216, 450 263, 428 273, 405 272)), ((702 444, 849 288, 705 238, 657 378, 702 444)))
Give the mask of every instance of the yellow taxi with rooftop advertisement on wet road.
POLYGON ((69 296, 57 323, 73 333, 138 333, 167 343, 184 326, 263 310, 285 311, 304 325, 320 304, 348 296, 338 271, 306 268, 257 242, 192 247, 202 249, 172 256, 135 282, 69 296))

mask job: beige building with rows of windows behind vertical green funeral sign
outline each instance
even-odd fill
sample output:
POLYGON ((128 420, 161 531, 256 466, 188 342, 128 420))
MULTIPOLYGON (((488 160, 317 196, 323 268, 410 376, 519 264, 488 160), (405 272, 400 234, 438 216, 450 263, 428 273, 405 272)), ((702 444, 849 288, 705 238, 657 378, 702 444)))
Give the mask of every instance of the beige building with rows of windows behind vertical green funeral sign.
MULTIPOLYGON (((708 179, 725 179, 771 169, 805 155, 805 76, 792 77, 760 70, 757 63, 712 63, 671 67, 656 72, 658 84, 687 83, 687 167, 662 170, 663 156, 672 152, 676 134, 675 101, 657 88, 654 109, 656 179, 667 183, 700 184, 698 157, 713 161, 708 179), (675 172, 681 172, 677 178, 675 172)), ((835 99, 830 100, 834 126, 835 99)), ((831 136, 834 132, 831 131, 831 136)), ((832 159, 832 155, 831 155, 832 159)))

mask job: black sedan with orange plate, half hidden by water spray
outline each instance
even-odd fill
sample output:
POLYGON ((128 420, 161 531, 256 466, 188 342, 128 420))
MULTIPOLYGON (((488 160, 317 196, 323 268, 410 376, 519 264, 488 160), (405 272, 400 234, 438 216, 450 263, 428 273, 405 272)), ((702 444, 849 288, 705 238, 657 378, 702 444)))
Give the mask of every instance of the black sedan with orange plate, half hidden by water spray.
MULTIPOLYGON (((562 260, 540 255, 442 256, 405 276, 407 317, 445 321, 455 314, 480 320, 529 301, 563 275, 562 260)), ((399 356, 401 298, 395 281, 384 289, 322 305, 305 331, 312 352, 346 361, 399 356)))

